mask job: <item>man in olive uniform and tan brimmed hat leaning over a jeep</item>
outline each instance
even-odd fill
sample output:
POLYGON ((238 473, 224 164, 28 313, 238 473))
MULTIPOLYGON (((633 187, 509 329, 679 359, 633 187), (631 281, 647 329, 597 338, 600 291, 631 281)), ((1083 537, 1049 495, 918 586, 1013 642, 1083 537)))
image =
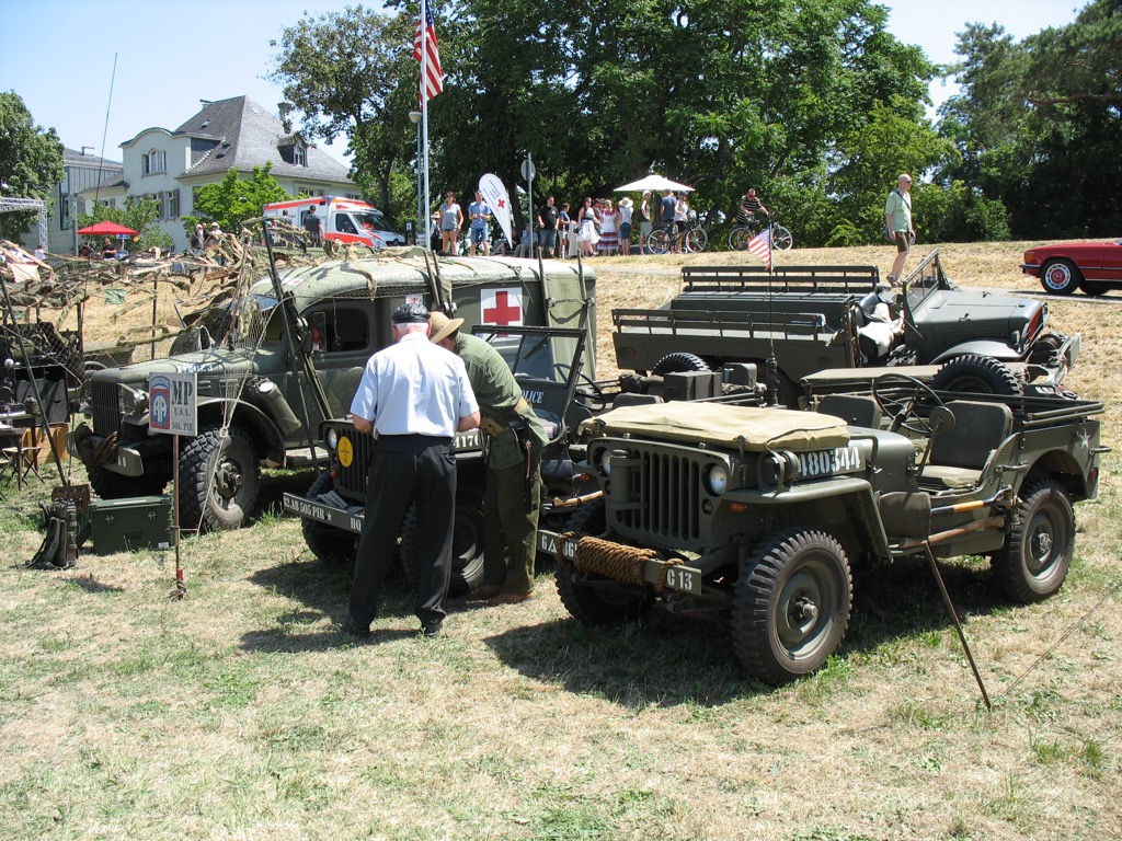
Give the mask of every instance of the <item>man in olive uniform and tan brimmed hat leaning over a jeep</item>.
POLYGON ((484 432, 484 584, 471 598, 490 607, 518 604, 534 598, 542 447, 549 438, 502 354, 479 336, 461 334, 463 318, 433 313, 431 321, 432 341, 467 366, 484 432))

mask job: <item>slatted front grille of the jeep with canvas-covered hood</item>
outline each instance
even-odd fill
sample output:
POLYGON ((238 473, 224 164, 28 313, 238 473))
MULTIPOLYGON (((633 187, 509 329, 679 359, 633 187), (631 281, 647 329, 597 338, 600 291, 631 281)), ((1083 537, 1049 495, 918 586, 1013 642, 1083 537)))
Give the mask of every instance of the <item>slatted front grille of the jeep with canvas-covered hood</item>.
POLYGON ((608 510, 625 533, 689 544, 701 536, 701 473, 708 459, 688 450, 646 450, 620 442, 628 459, 613 466, 608 510), (617 484, 618 483, 618 484, 617 484))

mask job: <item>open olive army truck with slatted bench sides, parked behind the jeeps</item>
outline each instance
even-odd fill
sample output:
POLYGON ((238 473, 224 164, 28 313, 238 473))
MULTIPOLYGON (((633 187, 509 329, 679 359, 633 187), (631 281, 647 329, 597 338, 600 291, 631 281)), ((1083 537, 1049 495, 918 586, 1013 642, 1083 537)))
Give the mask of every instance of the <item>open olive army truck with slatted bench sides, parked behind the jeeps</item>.
MULTIPOLYGON (((937 388, 1015 395, 1063 382, 1079 336, 1048 330, 1048 304, 959 289, 932 252, 903 292, 873 266, 692 266, 656 309, 614 309, 622 370, 665 373, 775 360, 769 388, 797 405, 798 383, 839 368, 938 364, 937 388)), ((761 380, 764 378, 761 376, 761 380)))

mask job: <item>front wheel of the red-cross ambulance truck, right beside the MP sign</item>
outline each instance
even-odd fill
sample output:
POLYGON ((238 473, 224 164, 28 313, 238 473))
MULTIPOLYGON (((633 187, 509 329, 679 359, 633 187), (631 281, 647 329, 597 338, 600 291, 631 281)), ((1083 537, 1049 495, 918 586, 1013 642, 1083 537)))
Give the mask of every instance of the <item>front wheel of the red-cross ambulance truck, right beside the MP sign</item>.
POLYGON ((180 453, 180 525, 215 532, 241 528, 257 505, 257 454, 249 433, 204 426, 180 453))

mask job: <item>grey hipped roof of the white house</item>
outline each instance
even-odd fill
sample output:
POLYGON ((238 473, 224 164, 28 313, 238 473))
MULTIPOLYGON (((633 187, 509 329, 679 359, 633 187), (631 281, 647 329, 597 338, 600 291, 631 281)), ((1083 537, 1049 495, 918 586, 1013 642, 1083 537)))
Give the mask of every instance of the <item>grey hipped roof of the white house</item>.
POLYGON ((292 136, 280 121, 248 96, 211 102, 173 133, 187 135, 192 144, 191 168, 184 177, 222 174, 237 168, 273 164, 274 177, 350 182, 346 164, 307 144, 307 166, 285 163, 280 147, 292 136))

